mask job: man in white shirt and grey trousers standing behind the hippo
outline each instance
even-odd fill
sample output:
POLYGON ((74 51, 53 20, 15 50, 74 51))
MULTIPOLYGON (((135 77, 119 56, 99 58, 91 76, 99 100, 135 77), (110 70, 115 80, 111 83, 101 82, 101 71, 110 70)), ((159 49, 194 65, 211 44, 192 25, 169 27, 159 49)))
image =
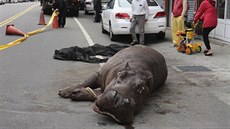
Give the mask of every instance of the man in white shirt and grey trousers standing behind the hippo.
POLYGON ((133 42, 131 45, 138 44, 137 36, 135 33, 135 27, 138 25, 140 34, 140 44, 144 44, 145 39, 145 22, 148 21, 149 7, 146 0, 133 0, 132 1, 132 18, 130 33, 132 35, 133 42))

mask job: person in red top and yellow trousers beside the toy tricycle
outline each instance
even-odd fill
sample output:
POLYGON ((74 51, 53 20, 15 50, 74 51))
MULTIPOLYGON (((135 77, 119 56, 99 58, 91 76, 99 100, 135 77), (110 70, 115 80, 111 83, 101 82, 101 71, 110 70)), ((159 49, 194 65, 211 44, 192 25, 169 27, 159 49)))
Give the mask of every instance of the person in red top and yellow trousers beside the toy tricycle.
POLYGON ((178 31, 184 32, 185 16, 188 10, 187 0, 174 0, 173 4, 173 16, 172 16, 172 42, 173 46, 178 46, 180 37, 176 35, 178 31))

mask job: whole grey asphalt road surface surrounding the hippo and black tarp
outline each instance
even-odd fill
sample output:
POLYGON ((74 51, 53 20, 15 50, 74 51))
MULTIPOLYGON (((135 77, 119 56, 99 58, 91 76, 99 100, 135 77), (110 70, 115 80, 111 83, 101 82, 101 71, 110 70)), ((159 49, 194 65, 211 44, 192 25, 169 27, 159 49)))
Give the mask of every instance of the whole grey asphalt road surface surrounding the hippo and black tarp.
MULTIPOLYGON (((37 25, 39 2, 0 6, 0 22, 37 4, 8 24, 24 32, 37 25), (14 9, 12 9, 14 8, 14 9)), ((101 33, 101 24, 93 23, 94 15, 67 18, 63 29, 48 27, 26 41, 0 51, 0 128, 1 129, 123 129, 108 117, 92 110, 92 102, 72 102, 57 95, 61 88, 80 83, 99 64, 54 60, 55 49, 92 44, 128 44, 130 37, 111 42, 101 33), (79 24, 80 23, 80 24, 79 24)), ((46 22, 49 16, 45 16, 46 22)), ((0 45, 20 36, 5 36, 0 27, 0 45)), ((229 129, 230 128, 230 45, 212 43, 214 56, 203 53, 178 53, 170 42, 147 38, 146 46, 161 52, 169 75, 164 87, 156 91, 136 115, 136 129, 229 129), (210 71, 186 72, 180 66, 202 66, 210 71)), ((204 46, 202 46, 204 48, 204 46)), ((191 70, 191 68, 190 68, 191 70)))

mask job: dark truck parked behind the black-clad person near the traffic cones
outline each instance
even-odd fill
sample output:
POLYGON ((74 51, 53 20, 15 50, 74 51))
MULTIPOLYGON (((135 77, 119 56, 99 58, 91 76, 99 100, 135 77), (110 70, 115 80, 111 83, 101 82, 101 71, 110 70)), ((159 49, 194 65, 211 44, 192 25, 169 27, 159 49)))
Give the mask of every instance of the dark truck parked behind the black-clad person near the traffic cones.
MULTIPOLYGON (((54 0, 44 0, 43 2, 43 12, 44 14, 52 14, 52 8, 53 8, 54 0)), ((78 16, 79 15, 79 6, 80 1, 79 0, 66 0, 67 4, 67 15, 71 16, 78 16)))

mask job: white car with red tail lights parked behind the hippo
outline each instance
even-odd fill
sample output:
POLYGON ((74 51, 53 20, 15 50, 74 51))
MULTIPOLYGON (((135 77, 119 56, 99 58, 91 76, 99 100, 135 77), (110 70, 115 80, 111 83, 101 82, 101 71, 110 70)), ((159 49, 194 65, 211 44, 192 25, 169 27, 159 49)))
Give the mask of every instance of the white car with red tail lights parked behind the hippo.
MULTIPOLYGON (((110 40, 117 40, 118 35, 130 34, 132 0, 111 0, 102 9, 102 33, 109 32, 110 40)), ((154 0, 147 0, 149 5, 148 21, 145 34, 155 34, 158 39, 165 38, 166 13, 154 0)), ((136 33, 139 33, 138 28, 136 33)))

